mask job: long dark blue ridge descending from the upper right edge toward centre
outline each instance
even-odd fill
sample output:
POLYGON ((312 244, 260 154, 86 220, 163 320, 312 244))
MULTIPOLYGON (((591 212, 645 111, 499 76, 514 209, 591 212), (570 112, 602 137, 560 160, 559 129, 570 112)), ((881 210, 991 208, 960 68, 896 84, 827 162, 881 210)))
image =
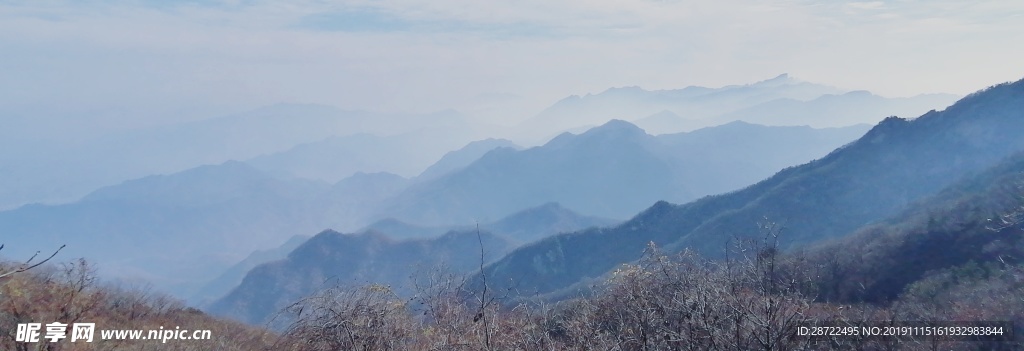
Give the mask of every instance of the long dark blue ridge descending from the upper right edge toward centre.
MULTIPOLYGON (((727 243, 784 226, 783 248, 839 237, 901 211, 1024 149, 1024 81, 969 95, 913 120, 888 118, 855 142, 741 190, 658 202, 617 226, 551 236, 483 271, 494 289, 569 294, 653 243, 720 257, 727 243)), ((479 277, 477 278, 479 279, 479 277)))

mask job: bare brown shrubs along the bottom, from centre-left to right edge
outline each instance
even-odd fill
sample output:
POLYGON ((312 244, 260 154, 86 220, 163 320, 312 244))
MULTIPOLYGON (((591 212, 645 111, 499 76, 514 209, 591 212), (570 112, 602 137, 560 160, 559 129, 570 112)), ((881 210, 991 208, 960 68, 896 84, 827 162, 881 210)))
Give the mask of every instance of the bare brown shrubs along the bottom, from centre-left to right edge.
MULTIPOLYGON (((778 228, 736 240, 725 260, 669 256, 653 245, 593 296, 498 308, 449 276, 413 299, 387 287, 336 288, 293 306, 275 349, 289 350, 1014 350, 1012 342, 798 335, 816 322, 1015 320, 1024 317, 1024 268, 933 272, 888 304, 817 299, 827 262, 781 255, 778 228), (970 276, 967 278, 966 276, 970 276), (959 277, 959 278, 957 278, 959 277), (483 304, 480 302, 483 301, 483 304)), ((1006 331, 1011 333, 1012 331, 1006 331)), ((1018 333, 1020 331, 1017 331, 1018 333)), ((1019 340, 1019 338, 1018 338, 1019 340)))

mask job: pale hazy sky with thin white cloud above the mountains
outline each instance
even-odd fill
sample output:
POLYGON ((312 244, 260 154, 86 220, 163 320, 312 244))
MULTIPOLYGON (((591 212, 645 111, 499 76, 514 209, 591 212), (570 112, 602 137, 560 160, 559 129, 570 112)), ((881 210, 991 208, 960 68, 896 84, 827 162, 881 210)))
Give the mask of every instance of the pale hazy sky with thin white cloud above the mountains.
POLYGON ((0 112, 142 121, 280 101, 436 111, 507 94, 540 107, 781 73, 886 96, 965 94, 1024 77, 1022 14, 1021 1, 946 0, 0 1, 0 112))

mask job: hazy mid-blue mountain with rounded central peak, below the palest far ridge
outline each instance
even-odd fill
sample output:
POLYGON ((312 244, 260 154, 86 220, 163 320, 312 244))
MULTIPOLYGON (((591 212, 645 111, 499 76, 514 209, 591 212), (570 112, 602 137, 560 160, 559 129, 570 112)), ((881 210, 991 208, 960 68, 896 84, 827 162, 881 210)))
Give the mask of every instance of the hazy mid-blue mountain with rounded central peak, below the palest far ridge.
POLYGON ((625 121, 542 146, 498 148, 464 169, 413 184, 382 203, 384 217, 422 225, 500 218, 556 202, 581 213, 626 218, 659 201, 737 189, 860 136, 868 127, 765 127, 735 122, 652 136, 625 121))

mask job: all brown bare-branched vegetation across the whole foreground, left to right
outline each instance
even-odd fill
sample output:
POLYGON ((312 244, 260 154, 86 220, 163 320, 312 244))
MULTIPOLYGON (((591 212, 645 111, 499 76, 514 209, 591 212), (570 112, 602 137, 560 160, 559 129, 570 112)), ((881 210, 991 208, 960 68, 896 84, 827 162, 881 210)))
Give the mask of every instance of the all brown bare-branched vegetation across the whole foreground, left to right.
MULTIPOLYGON (((653 245, 595 293, 554 304, 501 305, 456 274, 421 274, 402 298, 372 284, 333 288, 284 311, 276 336, 219 320, 143 289, 104 287, 84 260, 8 276, 0 286, 3 350, 1014 350, 1017 342, 831 338, 798 335, 807 323, 870 320, 1014 320, 1024 317, 1024 268, 969 263, 933 271, 887 304, 826 303, 841 278, 829 262, 777 250, 778 228, 734 240, 723 260, 653 245), (831 268, 830 268, 831 267, 831 268), (209 328, 209 341, 16 343, 17 323, 95 322, 97 328, 209 328)), ((998 230, 1016 229, 1002 227, 998 230)), ((843 256, 842 253, 837 254, 843 256)), ((0 267, 10 271, 12 265, 0 267)), ((1010 331, 1008 331, 1010 332, 1010 331)), ((1018 333, 1020 331, 1017 331, 1018 333)), ((98 338, 97 338, 98 339, 98 338)), ((1018 338, 1019 340, 1019 338, 1018 338)))

